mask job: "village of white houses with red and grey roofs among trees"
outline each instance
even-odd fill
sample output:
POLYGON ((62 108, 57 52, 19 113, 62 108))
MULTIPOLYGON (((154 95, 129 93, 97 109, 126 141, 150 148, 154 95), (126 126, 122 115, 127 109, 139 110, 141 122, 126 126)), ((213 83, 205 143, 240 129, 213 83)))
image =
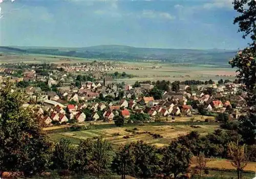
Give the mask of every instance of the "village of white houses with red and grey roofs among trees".
POLYGON ((2 64, 0 70, 1 87, 8 81, 14 84, 14 90, 24 92, 27 99, 24 107, 32 108, 45 126, 109 123, 118 115, 134 123, 131 115, 135 114, 143 114, 145 121, 174 122, 176 116, 217 116, 225 111, 229 120, 236 120, 246 109, 243 85, 222 79, 220 84, 211 79, 209 83, 197 85, 181 83, 175 91, 170 87, 174 84, 169 83, 167 90, 161 89, 159 97, 152 92, 158 88, 155 82, 115 84, 108 81, 106 73, 99 73, 99 76, 90 73, 120 68, 111 63, 23 64, 27 67, 24 70, 20 70, 20 64, 7 65, 2 64))

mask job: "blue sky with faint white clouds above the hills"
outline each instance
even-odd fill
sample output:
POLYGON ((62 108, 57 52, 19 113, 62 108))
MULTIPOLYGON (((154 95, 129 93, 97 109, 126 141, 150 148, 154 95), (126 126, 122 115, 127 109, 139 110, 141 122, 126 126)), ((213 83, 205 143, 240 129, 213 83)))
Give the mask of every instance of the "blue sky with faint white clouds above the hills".
POLYGON ((0 45, 236 50, 249 41, 231 1, 4 0, 0 45))

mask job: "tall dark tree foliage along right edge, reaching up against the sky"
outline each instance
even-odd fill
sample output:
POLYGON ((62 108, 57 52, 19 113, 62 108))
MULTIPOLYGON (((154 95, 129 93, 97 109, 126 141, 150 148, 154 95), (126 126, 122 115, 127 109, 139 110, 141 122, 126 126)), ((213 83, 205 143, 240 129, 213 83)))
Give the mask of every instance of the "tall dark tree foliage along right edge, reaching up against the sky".
MULTIPOLYGON (((247 90, 248 106, 256 106, 256 2, 250 0, 234 0, 234 10, 239 16, 234 18, 234 24, 239 25, 239 32, 243 33, 243 38, 250 36, 252 43, 249 47, 241 50, 229 61, 232 68, 238 68, 237 77, 240 82, 244 83, 247 90)), ((253 108, 253 107, 252 107, 253 108)), ((255 138, 249 137, 250 134, 255 136, 255 111, 248 111, 245 116, 240 118, 239 129, 246 130, 239 132, 249 144, 255 144, 255 138)))

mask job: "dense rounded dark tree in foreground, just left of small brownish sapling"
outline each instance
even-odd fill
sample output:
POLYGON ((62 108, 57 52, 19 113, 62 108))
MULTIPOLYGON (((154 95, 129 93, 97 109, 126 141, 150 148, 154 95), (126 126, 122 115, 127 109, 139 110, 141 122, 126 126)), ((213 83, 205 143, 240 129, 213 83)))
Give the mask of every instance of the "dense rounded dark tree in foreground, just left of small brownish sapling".
POLYGON ((162 158, 162 168, 165 176, 174 174, 177 178, 178 174, 185 173, 189 167, 191 152, 187 147, 182 146, 178 142, 172 142, 164 149, 162 158))

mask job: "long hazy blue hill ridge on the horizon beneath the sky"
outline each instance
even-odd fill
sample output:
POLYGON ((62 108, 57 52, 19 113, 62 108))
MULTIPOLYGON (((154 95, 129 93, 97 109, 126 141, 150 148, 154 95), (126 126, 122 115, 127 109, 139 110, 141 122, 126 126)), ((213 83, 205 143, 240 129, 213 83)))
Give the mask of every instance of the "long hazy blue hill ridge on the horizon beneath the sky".
POLYGON ((99 45, 81 48, 64 47, 0 47, 0 52, 36 53, 61 56, 74 56, 113 61, 163 61, 193 64, 227 64, 236 54, 236 50, 193 50, 193 49, 160 49, 137 48, 121 45, 99 45))

